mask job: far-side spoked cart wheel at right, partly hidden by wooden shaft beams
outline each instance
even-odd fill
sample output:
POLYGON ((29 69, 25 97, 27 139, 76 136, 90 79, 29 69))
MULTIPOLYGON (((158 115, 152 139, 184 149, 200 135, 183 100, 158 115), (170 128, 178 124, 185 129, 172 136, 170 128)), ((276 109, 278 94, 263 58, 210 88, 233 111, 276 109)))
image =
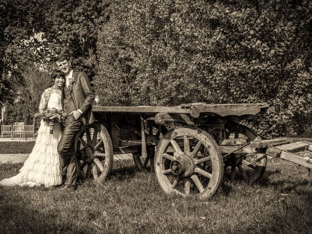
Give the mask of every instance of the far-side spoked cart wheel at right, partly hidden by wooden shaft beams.
MULTIPOLYGON (((244 125, 234 125, 228 132, 227 138, 245 139, 247 143, 252 140, 261 140, 254 130, 244 125)), ((266 169, 267 156, 265 154, 234 154, 233 160, 225 161, 224 172, 231 167, 230 179, 234 180, 236 171, 245 181, 254 182, 259 180, 266 169)))

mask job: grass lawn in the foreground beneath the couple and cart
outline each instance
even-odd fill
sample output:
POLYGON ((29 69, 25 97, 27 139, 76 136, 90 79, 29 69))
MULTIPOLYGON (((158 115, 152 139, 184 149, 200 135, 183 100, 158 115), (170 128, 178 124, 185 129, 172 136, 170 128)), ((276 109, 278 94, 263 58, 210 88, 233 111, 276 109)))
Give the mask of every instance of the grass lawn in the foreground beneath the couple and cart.
MULTIPOLYGON (((0 179, 22 164, 0 164, 0 179)), ((223 185, 209 200, 164 194, 154 174, 132 160, 114 162, 104 184, 76 192, 0 187, 0 233, 311 233, 306 170, 270 159, 260 183, 223 185)))

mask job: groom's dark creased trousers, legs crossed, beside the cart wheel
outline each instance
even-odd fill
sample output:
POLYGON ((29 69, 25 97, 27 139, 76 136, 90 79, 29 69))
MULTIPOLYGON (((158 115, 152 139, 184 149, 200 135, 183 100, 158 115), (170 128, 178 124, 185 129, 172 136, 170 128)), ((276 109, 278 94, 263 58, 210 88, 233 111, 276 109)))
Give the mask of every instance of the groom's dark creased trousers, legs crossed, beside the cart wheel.
POLYGON ((74 115, 66 117, 65 128, 61 133, 58 144, 62 177, 66 177, 64 184, 69 186, 77 185, 75 139, 81 127, 82 121, 80 118, 76 120, 74 115))

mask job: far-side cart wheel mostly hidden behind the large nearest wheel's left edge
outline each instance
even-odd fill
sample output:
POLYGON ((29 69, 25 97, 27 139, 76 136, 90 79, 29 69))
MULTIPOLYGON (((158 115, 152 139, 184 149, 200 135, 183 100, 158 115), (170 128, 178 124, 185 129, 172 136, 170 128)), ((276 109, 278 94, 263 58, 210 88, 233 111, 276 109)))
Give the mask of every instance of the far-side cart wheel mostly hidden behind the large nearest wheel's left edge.
MULTIPOLYGON (((165 135, 168 132, 167 128, 164 125, 151 125, 149 128, 149 134, 155 136, 156 139, 160 139, 160 136, 165 135), (156 131, 155 131, 156 130, 156 131)), ((147 146, 147 157, 143 158, 141 152, 137 154, 132 154, 133 160, 139 170, 144 170, 150 163, 151 172, 154 172, 154 157, 155 157, 155 146, 147 146)))

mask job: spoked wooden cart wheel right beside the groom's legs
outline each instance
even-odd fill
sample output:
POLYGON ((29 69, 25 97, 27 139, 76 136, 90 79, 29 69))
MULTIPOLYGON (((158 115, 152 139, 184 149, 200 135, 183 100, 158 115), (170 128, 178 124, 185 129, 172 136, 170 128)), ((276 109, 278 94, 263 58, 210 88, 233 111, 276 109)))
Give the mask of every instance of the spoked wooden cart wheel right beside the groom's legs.
POLYGON ((112 140, 104 125, 94 122, 83 126, 76 137, 76 150, 78 175, 92 176, 101 183, 113 168, 114 156, 112 140))

